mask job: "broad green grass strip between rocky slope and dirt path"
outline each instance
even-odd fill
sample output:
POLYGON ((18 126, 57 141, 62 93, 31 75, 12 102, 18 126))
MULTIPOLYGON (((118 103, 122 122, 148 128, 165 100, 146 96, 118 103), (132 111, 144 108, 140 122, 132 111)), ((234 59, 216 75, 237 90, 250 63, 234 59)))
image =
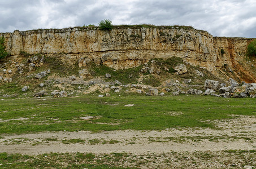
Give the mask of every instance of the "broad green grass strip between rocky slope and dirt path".
POLYGON ((231 117, 232 114, 256 115, 254 99, 219 99, 211 96, 81 96, 46 100, 4 99, 0 102, 0 119, 4 121, 0 122, 0 134, 215 128, 215 119, 235 118, 231 117), (136 106, 125 107, 126 104, 136 106), (170 115, 169 112, 173 111, 182 114, 170 115), (80 118, 88 115, 100 118, 80 118), (114 123, 117 124, 112 125, 114 123))

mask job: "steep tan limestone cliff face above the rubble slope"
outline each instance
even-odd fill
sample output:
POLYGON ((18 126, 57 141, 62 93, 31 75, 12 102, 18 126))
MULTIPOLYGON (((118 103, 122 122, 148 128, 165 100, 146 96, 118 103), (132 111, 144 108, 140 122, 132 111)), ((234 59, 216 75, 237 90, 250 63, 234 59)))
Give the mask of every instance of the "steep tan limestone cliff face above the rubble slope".
POLYGON ((115 69, 141 65, 153 58, 181 57, 194 66, 204 66, 215 75, 229 69, 241 80, 255 82, 256 75, 243 65, 248 43, 253 39, 212 37, 185 26, 123 28, 111 31, 98 28, 28 30, 0 33, 6 38, 11 55, 66 54, 71 63, 85 66, 90 61, 115 69))

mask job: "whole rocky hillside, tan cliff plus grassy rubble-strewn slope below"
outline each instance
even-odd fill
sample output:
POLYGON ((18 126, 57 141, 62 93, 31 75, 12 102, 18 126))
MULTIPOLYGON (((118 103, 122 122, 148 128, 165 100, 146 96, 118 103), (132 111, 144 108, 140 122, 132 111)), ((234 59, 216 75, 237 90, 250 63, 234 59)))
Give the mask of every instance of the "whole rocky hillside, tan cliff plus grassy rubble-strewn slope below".
POLYGON ((253 39, 212 37, 189 26, 76 27, 2 35, 11 56, 0 65, 1 95, 32 96, 41 90, 145 94, 153 87, 186 92, 203 90, 206 79, 256 82, 255 61, 245 56, 253 39))

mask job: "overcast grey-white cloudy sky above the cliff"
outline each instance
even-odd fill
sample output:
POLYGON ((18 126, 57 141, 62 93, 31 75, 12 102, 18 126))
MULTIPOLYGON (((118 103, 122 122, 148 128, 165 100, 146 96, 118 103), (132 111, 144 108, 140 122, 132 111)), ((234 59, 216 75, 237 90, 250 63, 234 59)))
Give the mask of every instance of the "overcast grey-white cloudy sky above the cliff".
POLYGON ((256 38, 255 0, 0 0, 0 32, 114 25, 187 25, 214 36, 256 38))

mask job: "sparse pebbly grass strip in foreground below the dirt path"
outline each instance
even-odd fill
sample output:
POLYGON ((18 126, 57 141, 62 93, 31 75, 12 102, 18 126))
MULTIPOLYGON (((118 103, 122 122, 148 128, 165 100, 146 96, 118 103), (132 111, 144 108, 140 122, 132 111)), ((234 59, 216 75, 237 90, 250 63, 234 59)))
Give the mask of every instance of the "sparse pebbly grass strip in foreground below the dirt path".
POLYGON ((49 153, 21 155, 0 153, 1 168, 244 168, 255 167, 255 150, 220 152, 49 153), (223 158, 224 157, 224 158, 223 158), (127 166, 127 167, 124 167, 127 166))

